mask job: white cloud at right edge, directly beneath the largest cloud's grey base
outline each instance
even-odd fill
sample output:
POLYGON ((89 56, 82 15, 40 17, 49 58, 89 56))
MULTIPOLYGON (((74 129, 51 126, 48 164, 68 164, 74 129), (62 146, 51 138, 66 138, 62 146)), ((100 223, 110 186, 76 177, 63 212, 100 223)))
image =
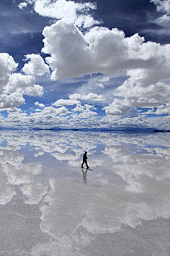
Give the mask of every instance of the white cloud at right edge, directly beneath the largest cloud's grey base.
POLYGON ((149 82, 145 82, 145 78, 149 78, 147 70, 130 70, 128 74, 130 78, 115 90, 115 95, 126 97, 130 106, 149 108, 169 103, 170 87, 165 82, 158 82, 159 78, 154 77, 156 70, 154 70, 154 78, 149 75, 151 78, 149 82), (157 80, 154 82, 155 79, 157 80))

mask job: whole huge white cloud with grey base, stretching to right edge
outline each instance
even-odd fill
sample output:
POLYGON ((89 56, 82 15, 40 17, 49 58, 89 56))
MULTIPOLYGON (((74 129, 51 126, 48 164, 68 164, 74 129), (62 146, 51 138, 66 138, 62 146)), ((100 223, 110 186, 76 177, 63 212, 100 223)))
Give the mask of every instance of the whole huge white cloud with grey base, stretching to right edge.
POLYGON ((169 78, 169 45, 145 43, 137 34, 125 38, 117 28, 94 27, 84 35, 73 23, 57 21, 45 27, 43 35, 42 51, 51 55, 46 61, 52 80, 137 68, 147 70, 147 80, 169 78))

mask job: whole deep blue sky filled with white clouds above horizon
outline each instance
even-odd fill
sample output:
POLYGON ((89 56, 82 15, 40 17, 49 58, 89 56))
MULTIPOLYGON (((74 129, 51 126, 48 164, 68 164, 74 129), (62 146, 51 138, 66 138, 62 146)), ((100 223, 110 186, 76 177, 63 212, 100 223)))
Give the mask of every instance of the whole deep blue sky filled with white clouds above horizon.
POLYGON ((170 129, 170 0, 1 0, 8 128, 170 129))

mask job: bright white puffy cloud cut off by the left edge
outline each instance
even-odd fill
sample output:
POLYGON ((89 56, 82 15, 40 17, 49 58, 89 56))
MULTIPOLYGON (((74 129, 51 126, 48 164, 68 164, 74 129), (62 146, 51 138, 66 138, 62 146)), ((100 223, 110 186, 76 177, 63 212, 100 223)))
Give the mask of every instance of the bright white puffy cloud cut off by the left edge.
POLYGON ((8 112, 16 112, 16 107, 22 105, 25 100, 23 94, 41 96, 43 87, 35 85, 35 78, 31 75, 13 73, 18 63, 8 53, 0 53, 0 108, 8 112))

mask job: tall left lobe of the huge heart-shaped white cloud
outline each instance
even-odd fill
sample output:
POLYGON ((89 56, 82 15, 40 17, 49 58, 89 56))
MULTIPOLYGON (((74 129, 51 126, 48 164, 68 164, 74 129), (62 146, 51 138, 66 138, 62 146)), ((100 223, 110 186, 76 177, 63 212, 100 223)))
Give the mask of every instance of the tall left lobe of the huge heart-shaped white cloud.
POLYGON ((72 78, 90 73, 91 62, 86 50, 84 36, 73 23, 57 21, 43 32, 45 46, 42 52, 51 57, 45 58, 52 68, 52 80, 72 78))

